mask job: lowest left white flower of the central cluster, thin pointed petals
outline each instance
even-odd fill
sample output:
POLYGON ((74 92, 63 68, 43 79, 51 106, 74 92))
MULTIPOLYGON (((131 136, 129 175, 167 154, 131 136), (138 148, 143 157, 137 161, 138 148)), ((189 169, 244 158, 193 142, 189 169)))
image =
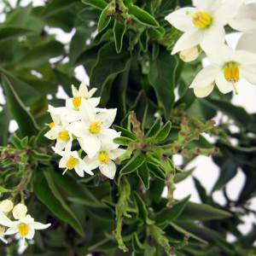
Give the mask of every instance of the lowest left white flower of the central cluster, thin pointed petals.
POLYGON ((71 150, 71 143, 67 145, 64 151, 59 150, 58 148, 53 148, 56 154, 60 154, 61 160, 59 162, 60 168, 65 168, 63 174, 67 171, 74 170, 79 177, 84 177, 84 172, 93 175, 93 172, 84 164, 84 161, 79 157, 77 151, 71 150))

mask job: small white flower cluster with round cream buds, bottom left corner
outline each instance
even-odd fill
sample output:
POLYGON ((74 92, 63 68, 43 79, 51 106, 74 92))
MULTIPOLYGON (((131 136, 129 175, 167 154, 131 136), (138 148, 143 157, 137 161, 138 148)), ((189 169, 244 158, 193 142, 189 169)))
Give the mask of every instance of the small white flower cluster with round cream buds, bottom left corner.
POLYGON ((41 224, 36 222, 29 214, 26 214, 27 207, 19 203, 14 206, 10 200, 0 202, 0 239, 7 243, 4 236, 17 234, 25 242, 25 239, 31 240, 35 235, 35 230, 44 230, 49 228, 50 224, 41 224), (12 212, 11 220, 8 215, 12 212))

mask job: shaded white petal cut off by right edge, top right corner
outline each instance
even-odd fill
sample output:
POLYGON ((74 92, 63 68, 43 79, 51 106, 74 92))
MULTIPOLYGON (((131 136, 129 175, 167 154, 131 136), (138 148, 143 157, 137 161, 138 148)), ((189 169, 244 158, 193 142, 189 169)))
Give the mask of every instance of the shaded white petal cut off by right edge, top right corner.
POLYGON ((235 17, 230 20, 230 26, 241 32, 250 32, 255 30, 256 3, 242 4, 235 17))

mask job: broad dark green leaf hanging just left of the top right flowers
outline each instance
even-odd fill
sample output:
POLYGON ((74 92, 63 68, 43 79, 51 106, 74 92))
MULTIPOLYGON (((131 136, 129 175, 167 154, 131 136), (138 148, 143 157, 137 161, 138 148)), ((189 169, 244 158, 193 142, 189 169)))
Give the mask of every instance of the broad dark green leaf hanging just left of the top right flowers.
POLYGON ((150 60, 148 79, 166 119, 169 119, 174 104, 177 66, 177 58, 164 49, 160 50, 156 60, 150 60))

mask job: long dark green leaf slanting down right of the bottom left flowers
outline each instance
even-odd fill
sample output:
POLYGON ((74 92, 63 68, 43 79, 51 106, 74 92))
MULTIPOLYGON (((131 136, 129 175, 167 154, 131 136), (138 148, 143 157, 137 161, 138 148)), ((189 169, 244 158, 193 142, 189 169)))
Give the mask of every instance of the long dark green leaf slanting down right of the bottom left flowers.
POLYGON ((57 201, 55 195, 51 192, 48 183, 43 174, 44 171, 37 170, 34 172, 33 187, 34 192, 38 199, 44 203, 49 211, 52 212, 57 218, 60 218, 63 222, 71 225, 81 236, 84 234, 84 230, 76 219, 70 215, 67 210, 62 207, 61 203, 57 201))

